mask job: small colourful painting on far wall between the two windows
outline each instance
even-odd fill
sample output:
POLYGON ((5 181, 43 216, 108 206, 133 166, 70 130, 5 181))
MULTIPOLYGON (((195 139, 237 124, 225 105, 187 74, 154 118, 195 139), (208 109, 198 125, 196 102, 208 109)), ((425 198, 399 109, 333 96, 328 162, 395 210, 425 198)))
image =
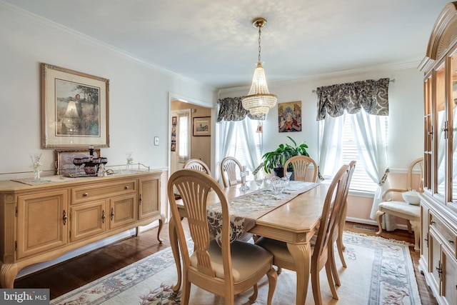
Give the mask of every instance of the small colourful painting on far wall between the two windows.
POLYGON ((278 131, 301 131, 301 101, 278 103, 278 131))

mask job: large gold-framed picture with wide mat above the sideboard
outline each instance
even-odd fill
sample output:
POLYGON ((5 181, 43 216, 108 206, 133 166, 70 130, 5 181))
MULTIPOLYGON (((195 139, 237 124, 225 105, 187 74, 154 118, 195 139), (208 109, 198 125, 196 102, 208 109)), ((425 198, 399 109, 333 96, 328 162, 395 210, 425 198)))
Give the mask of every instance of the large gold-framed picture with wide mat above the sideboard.
POLYGON ((109 79, 41 64, 41 146, 109 147, 109 79))

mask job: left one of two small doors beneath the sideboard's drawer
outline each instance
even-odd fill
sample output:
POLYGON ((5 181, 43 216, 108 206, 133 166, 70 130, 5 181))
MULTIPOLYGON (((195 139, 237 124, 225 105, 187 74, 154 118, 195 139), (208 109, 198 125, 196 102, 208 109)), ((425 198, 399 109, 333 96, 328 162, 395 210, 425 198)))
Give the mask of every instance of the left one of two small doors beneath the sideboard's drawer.
POLYGON ((101 234, 105 231, 107 215, 105 201, 94 201, 71 207, 71 241, 101 234))

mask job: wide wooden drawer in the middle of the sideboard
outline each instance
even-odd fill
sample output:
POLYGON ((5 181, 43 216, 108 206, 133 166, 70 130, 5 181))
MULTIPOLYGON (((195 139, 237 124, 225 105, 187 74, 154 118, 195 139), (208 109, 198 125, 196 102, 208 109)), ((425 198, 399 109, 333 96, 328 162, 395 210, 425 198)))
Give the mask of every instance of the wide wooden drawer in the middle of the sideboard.
POLYGON ((94 199, 104 199, 134 192, 136 192, 136 180, 84 186, 71 189, 71 204, 79 204, 94 199))

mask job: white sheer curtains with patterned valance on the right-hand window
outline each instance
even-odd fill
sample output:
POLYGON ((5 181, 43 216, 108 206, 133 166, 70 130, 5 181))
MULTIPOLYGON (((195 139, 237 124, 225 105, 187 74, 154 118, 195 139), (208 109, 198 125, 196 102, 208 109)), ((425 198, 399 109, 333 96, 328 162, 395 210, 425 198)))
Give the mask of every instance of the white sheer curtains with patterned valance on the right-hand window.
MULTIPOLYGON (((351 115, 351 127, 354 133, 358 154, 365 165, 366 172, 378 184, 371 218, 378 210, 383 190, 388 187, 387 139, 385 129, 378 116, 388 115, 389 79, 356 81, 336 84, 317 89, 318 116, 323 120, 319 168, 322 173, 333 171, 341 162, 341 134, 343 132, 343 114, 351 115), (329 118, 328 116, 331 116, 329 118)), ((325 174, 324 174, 325 175, 325 174)), ((386 216, 388 229, 396 226, 394 218, 386 216), (389 219, 387 219, 389 218, 389 219)))

